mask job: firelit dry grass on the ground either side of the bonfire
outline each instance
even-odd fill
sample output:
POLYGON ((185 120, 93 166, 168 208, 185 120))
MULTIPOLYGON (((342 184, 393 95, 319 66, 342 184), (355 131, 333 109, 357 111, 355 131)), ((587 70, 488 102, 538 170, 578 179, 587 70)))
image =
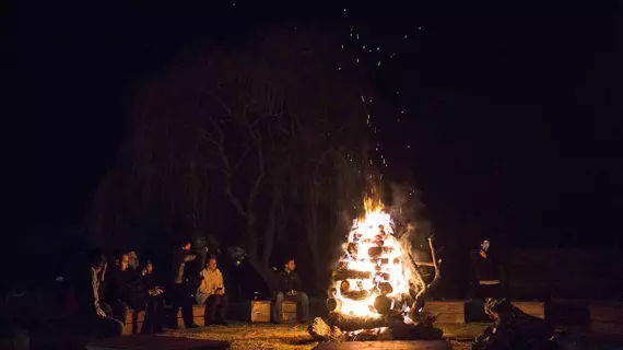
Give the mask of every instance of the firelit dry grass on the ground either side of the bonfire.
MULTIPOLYGON (((444 337, 451 339, 452 349, 469 349, 472 340, 485 324, 437 325, 444 337)), ((232 324, 198 329, 169 330, 167 336, 228 341, 233 350, 309 350, 318 342, 307 332, 306 325, 232 324)))

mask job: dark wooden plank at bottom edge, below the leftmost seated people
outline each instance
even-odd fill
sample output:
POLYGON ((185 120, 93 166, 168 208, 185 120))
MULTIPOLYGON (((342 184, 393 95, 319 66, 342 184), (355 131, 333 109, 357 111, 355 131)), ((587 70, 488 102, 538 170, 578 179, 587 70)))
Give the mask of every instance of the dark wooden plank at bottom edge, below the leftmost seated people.
POLYGON ((86 345, 87 350, 224 350, 228 348, 230 343, 226 341, 160 336, 107 338, 86 345))

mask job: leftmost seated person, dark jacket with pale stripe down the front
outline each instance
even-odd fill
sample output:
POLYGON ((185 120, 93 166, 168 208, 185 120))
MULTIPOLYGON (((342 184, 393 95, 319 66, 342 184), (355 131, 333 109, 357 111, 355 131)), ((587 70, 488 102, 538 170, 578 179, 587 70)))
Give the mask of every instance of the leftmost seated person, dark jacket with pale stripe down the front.
POLYGON ((82 270, 82 278, 77 280, 78 296, 80 298, 80 326, 87 331, 104 337, 117 337, 124 331, 124 324, 111 317, 110 306, 99 301, 103 288, 103 275, 107 262, 99 250, 90 252, 89 270, 82 270), (89 271, 89 272, 87 272, 89 271))

